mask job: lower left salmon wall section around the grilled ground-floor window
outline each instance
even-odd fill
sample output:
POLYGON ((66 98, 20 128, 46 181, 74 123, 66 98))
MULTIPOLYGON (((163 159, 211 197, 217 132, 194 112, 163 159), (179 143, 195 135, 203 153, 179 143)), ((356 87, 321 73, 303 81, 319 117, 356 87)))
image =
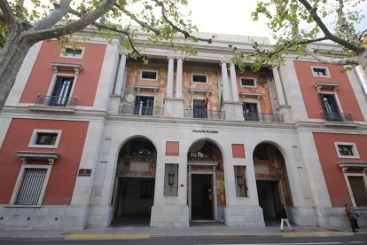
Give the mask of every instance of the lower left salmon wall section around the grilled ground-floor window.
MULTIPOLYGON (((4 145, 0 149, 0 203, 9 204, 12 197, 21 167, 17 151, 35 151, 59 154, 52 166, 43 204, 70 204, 88 125, 88 122, 12 119, 4 145), (58 148, 29 148, 28 144, 35 129, 62 130, 58 148)), ((28 163, 47 164, 47 161, 28 163)))

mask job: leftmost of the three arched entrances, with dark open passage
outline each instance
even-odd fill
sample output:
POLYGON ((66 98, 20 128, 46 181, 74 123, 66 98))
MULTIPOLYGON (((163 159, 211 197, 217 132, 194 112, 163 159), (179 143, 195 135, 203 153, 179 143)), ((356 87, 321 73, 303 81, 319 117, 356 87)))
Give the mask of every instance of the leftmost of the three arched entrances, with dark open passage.
POLYGON ((154 201, 157 150, 146 138, 121 147, 113 192, 113 225, 149 226, 154 201))

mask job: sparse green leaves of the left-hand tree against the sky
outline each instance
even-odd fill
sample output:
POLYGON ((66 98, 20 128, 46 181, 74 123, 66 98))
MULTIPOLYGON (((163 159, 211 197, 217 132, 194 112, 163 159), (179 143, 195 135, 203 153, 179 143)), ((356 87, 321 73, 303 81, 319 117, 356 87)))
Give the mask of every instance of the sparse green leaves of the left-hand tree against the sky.
MULTIPOLYGON (((37 20, 42 20, 59 8, 64 0, 8 0, 12 12, 17 18, 33 25, 37 20)), ((71 23, 92 12, 103 0, 72 1, 71 8, 74 12, 68 12, 63 21, 71 23), (78 14, 75 15, 75 12, 78 14)), ((116 0, 112 10, 106 11, 105 16, 97 21, 92 28, 93 35, 103 36, 111 43, 113 38, 120 38, 122 48, 131 51, 131 58, 144 57, 144 48, 148 45, 163 45, 170 51, 196 54, 192 43, 198 40, 191 33, 198 28, 191 23, 182 7, 187 5, 187 0, 116 0), (147 33, 146 43, 136 43, 138 32, 147 33), (180 43, 177 43, 177 38, 180 43)), ((93 23, 90 23, 93 24, 93 23)), ((59 24, 60 25, 60 24, 59 24)), ((56 26, 56 25, 55 25, 56 26)), ((0 44, 4 46, 7 38, 7 29, 0 22, 0 44)), ((76 45, 73 40, 80 40, 82 36, 58 36, 59 46, 65 47, 76 45)))

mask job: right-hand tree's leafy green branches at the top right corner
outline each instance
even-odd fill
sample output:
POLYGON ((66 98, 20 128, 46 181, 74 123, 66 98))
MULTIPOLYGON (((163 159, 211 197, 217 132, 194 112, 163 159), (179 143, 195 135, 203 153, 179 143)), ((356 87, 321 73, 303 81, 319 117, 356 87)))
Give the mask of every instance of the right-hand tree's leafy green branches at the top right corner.
POLYGON ((364 18, 358 8, 360 4, 363 0, 260 1, 252 13, 253 20, 265 16, 276 44, 264 48, 254 43, 255 52, 251 54, 231 47, 236 54, 233 61, 241 68, 251 63, 254 69, 259 69, 264 63, 277 66, 284 61, 285 52, 295 51, 324 63, 361 65, 367 74, 367 50, 362 43, 367 29, 360 32, 355 29, 364 18), (312 48, 312 43, 324 41, 338 44, 336 53, 341 55, 330 56, 312 48))

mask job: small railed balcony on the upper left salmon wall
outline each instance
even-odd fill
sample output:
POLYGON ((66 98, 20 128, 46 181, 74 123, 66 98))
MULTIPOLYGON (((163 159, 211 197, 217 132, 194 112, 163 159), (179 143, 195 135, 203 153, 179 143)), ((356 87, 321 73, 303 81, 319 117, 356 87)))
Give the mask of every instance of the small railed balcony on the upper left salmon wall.
POLYGON ((35 111, 55 111, 55 112, 72 112, 76 97, 61 97, 61 96, 44 96, 37 95, 35 105, 28 106, 29 110, 35 111))

